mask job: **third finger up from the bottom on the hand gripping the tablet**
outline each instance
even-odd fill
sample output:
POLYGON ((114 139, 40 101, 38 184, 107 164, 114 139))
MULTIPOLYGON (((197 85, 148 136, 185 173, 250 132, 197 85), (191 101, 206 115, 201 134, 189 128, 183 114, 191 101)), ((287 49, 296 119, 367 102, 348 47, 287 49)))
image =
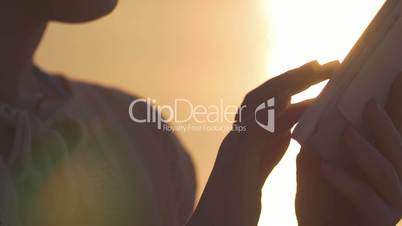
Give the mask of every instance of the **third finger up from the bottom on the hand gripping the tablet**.
POLYGON ((370 136, 382 154, 392 162, 402 180, 402 138, 388 114, 374 101, 364 113, 370 136))

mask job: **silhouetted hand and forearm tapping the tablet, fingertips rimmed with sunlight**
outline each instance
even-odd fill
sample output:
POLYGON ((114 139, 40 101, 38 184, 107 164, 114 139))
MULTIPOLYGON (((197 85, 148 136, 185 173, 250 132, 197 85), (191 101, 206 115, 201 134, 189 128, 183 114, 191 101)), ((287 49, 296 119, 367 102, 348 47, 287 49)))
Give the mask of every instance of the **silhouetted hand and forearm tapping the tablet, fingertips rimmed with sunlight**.
POLYGON ((284 155, 291 128, 311 104, 306 101, 290 105, 291 96, 328 79, 338 65, 338 62, 324 66, 317 62, 306 64, 269 80, 246 96, 234 125, 245 131, 232 131, 223 141, 201 201, 188 225, 257 225, 261 188, 284 155), (276 115, 273 133, 257 123, 273 123, 268 109, 257 111, 271 98, 275 98, 276 115))

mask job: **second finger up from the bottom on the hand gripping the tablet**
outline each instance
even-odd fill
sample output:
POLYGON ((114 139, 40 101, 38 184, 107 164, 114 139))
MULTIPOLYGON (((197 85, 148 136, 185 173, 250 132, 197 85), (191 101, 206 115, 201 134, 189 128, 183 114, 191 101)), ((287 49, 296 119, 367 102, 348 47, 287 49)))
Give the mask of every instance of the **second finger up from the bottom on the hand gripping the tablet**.
POLYGON ((352 127, 345 130, 343 138, 373 188, 389 204, 401 206, 401 181, 393 165, 352 127))

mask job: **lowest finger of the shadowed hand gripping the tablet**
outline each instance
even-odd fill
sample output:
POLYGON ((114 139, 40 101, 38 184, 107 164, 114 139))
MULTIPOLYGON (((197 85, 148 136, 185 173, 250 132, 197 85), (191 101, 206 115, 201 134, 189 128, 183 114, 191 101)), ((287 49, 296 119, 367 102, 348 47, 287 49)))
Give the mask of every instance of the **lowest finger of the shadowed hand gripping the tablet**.
POLYGON ((349 199, 370 226, 394 226, 400 215, 390 210, 377 193, 328 163, 322 163, 321 170, 328 182, 349 199))

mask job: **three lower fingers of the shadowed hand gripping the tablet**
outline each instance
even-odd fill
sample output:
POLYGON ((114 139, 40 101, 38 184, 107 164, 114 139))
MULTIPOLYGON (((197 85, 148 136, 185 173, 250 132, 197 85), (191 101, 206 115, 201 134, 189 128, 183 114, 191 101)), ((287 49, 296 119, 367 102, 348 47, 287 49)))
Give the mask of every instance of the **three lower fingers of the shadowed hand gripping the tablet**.
POLYGON ((366 139, 353 127, 343 140, 364 175, 356 178, 323 163, 323 174, 360 213, 367 226, 395 226, 402 217, 402 137, 388 114, 374 101, 364 112, 366 139))

